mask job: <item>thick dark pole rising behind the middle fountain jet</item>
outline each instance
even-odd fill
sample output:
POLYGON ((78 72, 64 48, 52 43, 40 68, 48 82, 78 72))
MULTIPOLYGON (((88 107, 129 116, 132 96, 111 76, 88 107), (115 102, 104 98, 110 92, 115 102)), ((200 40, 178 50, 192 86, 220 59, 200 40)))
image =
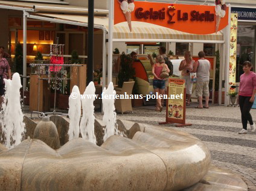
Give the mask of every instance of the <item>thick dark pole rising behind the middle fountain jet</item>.
POLYGON ((94 80, 94 0, 88 2, 88 63, 87 63, 87 81, 88 84, 94 80))

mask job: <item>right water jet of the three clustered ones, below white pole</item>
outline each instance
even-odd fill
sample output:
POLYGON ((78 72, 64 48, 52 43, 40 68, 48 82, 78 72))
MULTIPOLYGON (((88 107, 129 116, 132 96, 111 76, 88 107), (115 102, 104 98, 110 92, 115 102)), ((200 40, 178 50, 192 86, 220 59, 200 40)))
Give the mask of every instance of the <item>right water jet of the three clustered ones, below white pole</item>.
POLYGON ((114 90, 113 83, 110 82, 109 86, 104 87, 103 89, 103 96, 102 96, 102 102, 103 102, 103 122, 106 124, 105 128, 105 134, 103 137, 103 140, 106 141, 106 139, 114 134, 118 134, 117 130, 117 113, 115 113, 115 95, 116 92, 114 90))

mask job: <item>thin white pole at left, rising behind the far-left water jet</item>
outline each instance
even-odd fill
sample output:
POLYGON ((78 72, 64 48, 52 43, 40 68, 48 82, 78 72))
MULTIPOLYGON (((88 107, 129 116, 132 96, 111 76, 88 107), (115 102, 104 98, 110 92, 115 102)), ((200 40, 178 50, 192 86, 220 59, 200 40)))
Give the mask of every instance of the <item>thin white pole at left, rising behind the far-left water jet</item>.
POLYGON ((27 12, 23 11, 23 100, 27 89, 27 12))

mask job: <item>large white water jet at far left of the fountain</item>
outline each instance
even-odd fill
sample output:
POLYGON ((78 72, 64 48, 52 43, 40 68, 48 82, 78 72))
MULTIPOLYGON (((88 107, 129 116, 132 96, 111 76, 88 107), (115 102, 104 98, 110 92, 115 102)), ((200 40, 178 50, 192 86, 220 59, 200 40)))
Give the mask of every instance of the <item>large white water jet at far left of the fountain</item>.
POLYGON ((25 124, 23 122, 23 113, 21 110, 21 78, 18 73, 13 74, 13 80, 6 80, 5 96, 2 103, 0 124, 5 138, 7 148, 13 148, 21 143, 25 134, 25 124))

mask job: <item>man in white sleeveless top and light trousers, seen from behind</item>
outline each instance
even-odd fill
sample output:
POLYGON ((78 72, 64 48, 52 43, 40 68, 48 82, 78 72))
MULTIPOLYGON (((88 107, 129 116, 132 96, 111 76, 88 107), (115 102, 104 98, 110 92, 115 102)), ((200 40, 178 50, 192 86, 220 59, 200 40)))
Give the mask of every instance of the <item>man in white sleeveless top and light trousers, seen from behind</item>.
POLYGON ((199 105, 195 108, 209 108, 209 81, 211 64, 205 59, 205 52, 198 53, 199 60, 194 63, 193 71, 196 72, 196 96, 199 100, 199 105), (203 96, 205 96, 205 105, 203 106, 203 96))

